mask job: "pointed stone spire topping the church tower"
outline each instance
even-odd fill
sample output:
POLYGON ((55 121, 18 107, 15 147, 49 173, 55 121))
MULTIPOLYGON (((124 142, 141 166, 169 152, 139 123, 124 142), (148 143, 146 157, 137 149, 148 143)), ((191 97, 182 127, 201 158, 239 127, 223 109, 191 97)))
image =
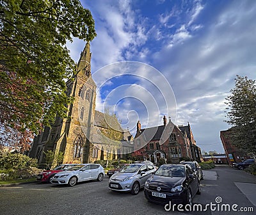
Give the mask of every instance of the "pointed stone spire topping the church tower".
POLYGON ((77 65, 77 74, 82 77, 91 76, 91 56, 90 43, 86 42, 83 52, 81 52, 80 59, 77 65))

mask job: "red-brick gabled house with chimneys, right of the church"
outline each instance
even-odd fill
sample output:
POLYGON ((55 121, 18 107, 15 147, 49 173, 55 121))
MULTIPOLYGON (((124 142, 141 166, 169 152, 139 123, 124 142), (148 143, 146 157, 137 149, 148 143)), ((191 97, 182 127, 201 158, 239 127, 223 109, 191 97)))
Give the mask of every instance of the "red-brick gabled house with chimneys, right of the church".
POLYGON ((163 125, 141 129, 141 123, 137 123, 137 132, 134 138, 134 155, 143 156, 143 159, 157 163, 159 158, 166 159, 167 163, 179 163, 181 159, 202 161, 199 147, 195 145, 195 139, 188 124, 177 126, 163 118, 163 125))

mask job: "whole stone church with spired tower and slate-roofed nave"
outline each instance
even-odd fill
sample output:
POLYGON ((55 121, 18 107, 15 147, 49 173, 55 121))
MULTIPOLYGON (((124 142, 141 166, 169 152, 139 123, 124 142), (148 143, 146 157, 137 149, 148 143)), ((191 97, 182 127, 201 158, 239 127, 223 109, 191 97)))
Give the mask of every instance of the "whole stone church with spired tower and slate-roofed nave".
POLYGON ((33 140, 30 157, 45 163, 47 150, 63 152, 63 163, 93 163, 100 159, 120 159, 133 152, 133 139, 124 131, 115 115, 95 110, 96 84, 91 74, 90 44, 87 42, 77 73, 67 81, 67 93, 74 97, 68 106, 68 118, 56 117, 51 127, 45 127, 33 140))

